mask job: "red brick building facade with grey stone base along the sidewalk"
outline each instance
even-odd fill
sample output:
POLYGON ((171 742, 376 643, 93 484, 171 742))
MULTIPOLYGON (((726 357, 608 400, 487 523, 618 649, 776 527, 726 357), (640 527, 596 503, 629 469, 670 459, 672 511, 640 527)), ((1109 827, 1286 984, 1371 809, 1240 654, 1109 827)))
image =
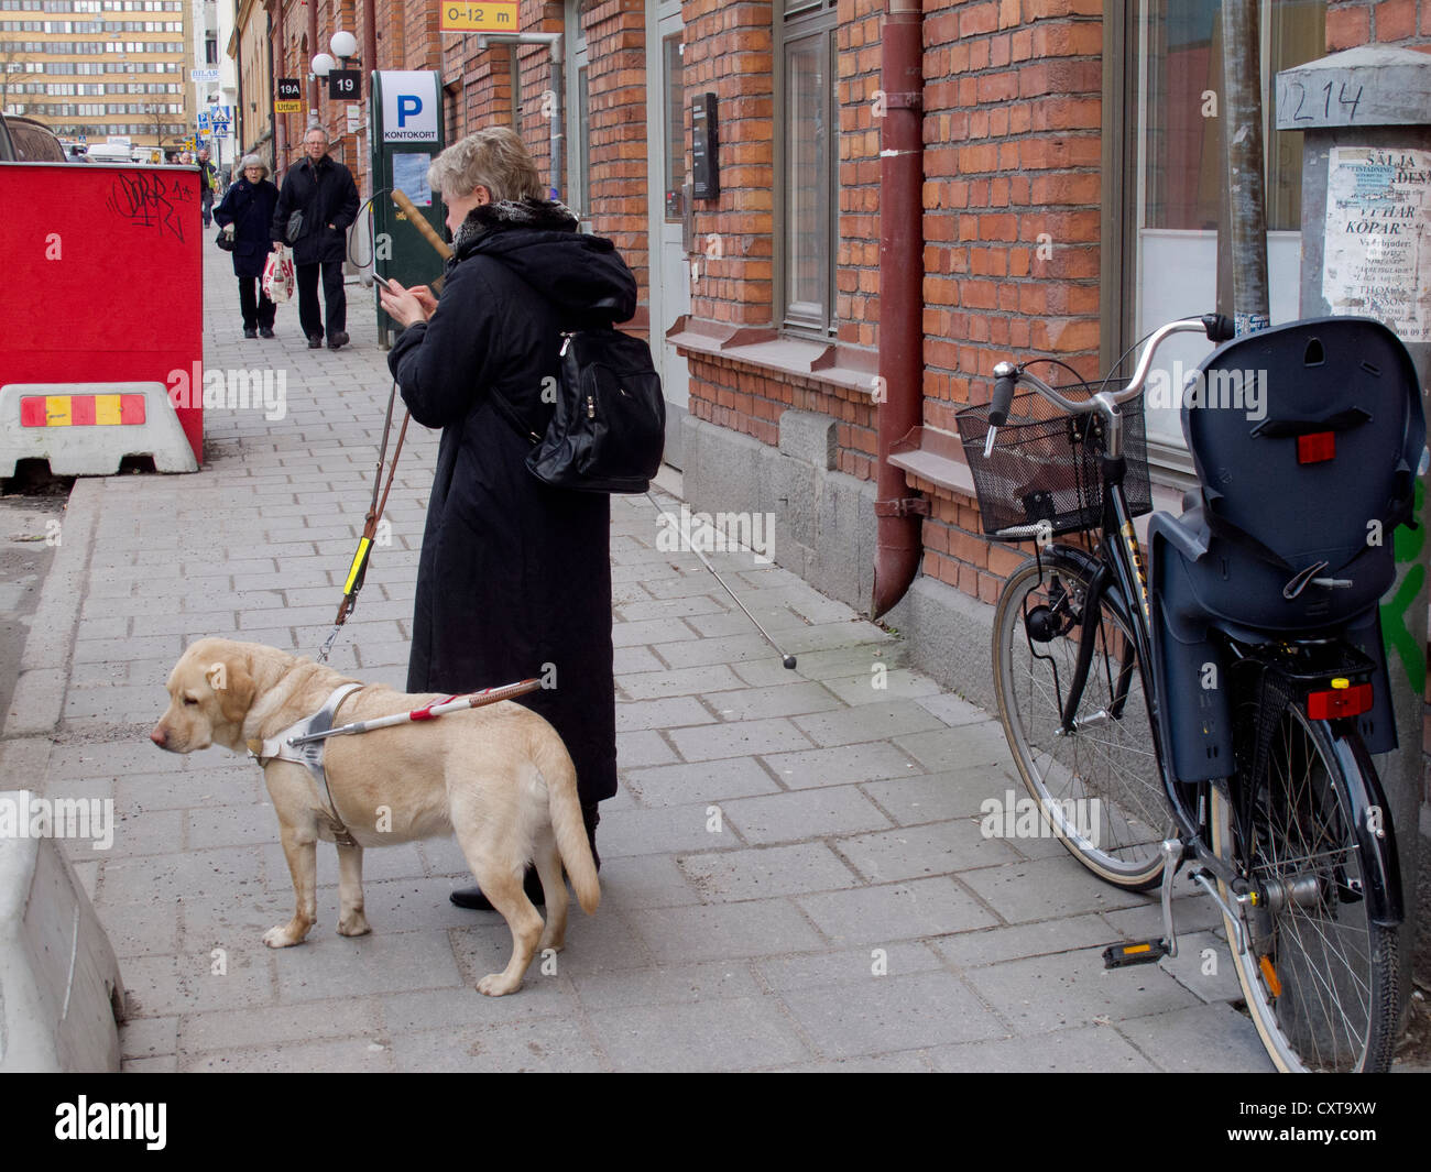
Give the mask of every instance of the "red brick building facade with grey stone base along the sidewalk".
MULTIPOLYGON (((890 389, 877 373, 884 3, 521 0, 521 31, 564 34, 560 62, 542 44, 482 47, 475 36, 442 34, 438 9, 416 0, 315 3, 316 36, 305 3, 246 6, 249 19, 269 23, 272 76, 306 76, 308 59, 339 27, 362 43, 371 4, 376 60, 362 63, 365 74, 439 70, 449 142, 494 122, 514 126, 542 175, 591 230, 617 242, 641 282, 634 326, 650 331, 667 385, 680 388, 670 451, 693 507, 774 512, 788 534, 777 560, 869 611, 877 431, 890 389), (720 193, 697 200, 685 186, 690 99, 704 93, 718 113, 720 193), (565 156, 555 169, 554 142, 565 156), (817 292, 806 296, 806 286, 817 292)), ((954 414, 989 394, 1003 358, 1058 358, 1089 376, 1146 329, 1156 309, 1146 289, 1169 275, 1168 255, 1148 249, 1205 236, 1216 199, 1203 190, 1206 157, 1202 172, 1138 170, 1142 155, 1206 155, 1211 140, 1206 109, 1171 99, 1168 109, 1139 109, 1135 86, 1172 79, 1159 93, 1195 97, 1203 84, 1203 103, 1215 96, 1213 7, 923 6, 922 428, 894 462, 927 514, 919 577, 892 621, 942 630, 924 640, 922 665, 973 697, 987 698, 989 620, 977 605, 995 600, 1020 551, 980 537, 954 414), (1163 218, 1146 240, 1130 219, 1133 195, 1156 200, 1163 218), (967 658, 964 644, 975 648, 967 658)), ((1431 0, 1264 7, 1274 70, 1359 44, 1431 52, 1431 0)), ((242 29, 236 41, 250 43, 242 29)), ((308 93, 303 113, 278 119, 279 170, 316 117, 366 195, 366 133, 348 136, 342 107, 326 97, 315 107, 316 86, 308 93)), ((243 145, 262 129, 243 127, 243 145)), ((1296 159, 1274 185, 1282 218, 1274 228, 1294 266, 1296 159)), ((1175 499, 1186 469, 1175 451, 1163 456, 1155 479, 1175 499)))

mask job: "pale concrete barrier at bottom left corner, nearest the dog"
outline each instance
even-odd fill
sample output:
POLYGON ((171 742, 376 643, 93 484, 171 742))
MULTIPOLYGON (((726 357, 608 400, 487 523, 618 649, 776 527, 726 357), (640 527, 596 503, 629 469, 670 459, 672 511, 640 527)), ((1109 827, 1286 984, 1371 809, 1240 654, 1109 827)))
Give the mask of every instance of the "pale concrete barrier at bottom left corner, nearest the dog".
POLYGON ((31 797, 0 793, 0 1072, 117 1070, 119 963, 31 797))

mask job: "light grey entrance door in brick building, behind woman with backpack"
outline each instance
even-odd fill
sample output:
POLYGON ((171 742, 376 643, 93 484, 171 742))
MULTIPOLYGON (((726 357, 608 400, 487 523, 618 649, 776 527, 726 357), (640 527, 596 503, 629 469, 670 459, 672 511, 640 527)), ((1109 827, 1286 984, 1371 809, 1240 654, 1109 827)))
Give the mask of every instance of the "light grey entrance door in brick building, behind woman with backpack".
POLYGON ((665 462, 680 468, 681 421, 690 401, 685 359, 665 341, 677 319, 691 312, 690 250, 685 220, 685 90, 681 80, 681 3, 647 0, 645 6, 647 140, 651 163, 651 353, 665 389, 665 462))

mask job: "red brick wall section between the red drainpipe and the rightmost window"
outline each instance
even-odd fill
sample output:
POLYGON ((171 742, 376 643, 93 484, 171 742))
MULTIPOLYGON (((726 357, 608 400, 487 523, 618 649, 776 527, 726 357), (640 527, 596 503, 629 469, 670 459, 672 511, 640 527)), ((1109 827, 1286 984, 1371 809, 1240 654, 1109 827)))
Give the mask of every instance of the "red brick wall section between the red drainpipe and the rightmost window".
MULTIPOLYGON (((963 0, 924 21, 924 422, 985 402, 993 365, 1046 355, 1098 372, 1100 0, 963 0)), ((975 501, 934 497, 923 570, 993 601, 1022 554, 975 501)))

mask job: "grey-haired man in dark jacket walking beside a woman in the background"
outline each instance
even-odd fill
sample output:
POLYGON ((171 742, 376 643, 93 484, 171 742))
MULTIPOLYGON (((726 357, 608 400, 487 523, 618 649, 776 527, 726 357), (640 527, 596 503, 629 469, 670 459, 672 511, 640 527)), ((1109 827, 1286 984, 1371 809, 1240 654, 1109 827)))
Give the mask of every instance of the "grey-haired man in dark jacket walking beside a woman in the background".
POLYGON ((283 176, 283 190, 269 235, 275 250, 293 249, 298 278, 298 321, 308 335, 309 349, 323 345, 323 315, 318 308, 318 276, 322 270, 323 303, 328 306, 328 348, 348 345, 348 296, 343 293, 343 255, 348 228, 358 219, 358 185, 352 172, 328 157, 328 132, 312 126, 303 136, 308 156, 283 176), (289 236, 289 219, 303 213, 302 226, 289 236))

